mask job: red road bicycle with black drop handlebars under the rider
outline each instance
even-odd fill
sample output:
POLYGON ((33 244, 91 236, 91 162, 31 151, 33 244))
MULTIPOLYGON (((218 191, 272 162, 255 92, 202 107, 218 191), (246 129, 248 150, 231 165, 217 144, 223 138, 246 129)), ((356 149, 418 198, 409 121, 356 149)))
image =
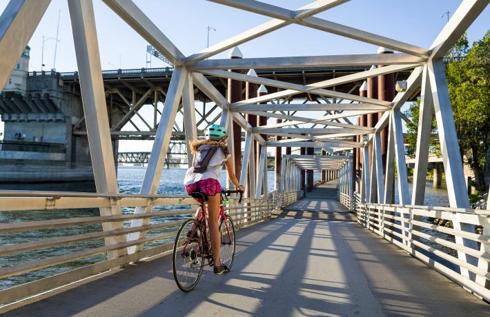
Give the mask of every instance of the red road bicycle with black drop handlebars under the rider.
MULTIPOLYGON (((226 214, 224 205, 228 204, 228 195, 239 194, 238 203, 242 203, 242 191, 222 190, 222 203, 219 207, 219 232, 221 232, 221 247, 219 259, 223 265, 231 269, 235 259, 235 227, 231 216, 226 214)), ((192 192, 190 194, 199 200, 199 216, 196 219, 184 221, 173 245, 173 277, 179 289, 183 292, 190 292, 199 282, 206 260, 208 265, 213 267, 213 250, 210 245, 208 226, 206 223, 208 207, 204 202, 208 197, 202 192, 192 192)), ((209 221, 209 219, 208 219, 209 221)))

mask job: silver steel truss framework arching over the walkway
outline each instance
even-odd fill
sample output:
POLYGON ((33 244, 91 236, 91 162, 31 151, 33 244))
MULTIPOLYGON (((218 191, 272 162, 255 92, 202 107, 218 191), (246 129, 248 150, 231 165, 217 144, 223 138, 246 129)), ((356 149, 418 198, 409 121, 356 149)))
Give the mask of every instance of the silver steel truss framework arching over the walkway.
MULTIPOLYGON (((435 109, 450 205, 451 207, 469 208, 462 161, 460 159, 458 139, 453 122, 451 101, 447 90, 442 58, 482 10, 484 10, 489 0, 463 0, 429 48, 420 48, 404 41, 389 39, 378 34, 357 30, 347 25, 333 23, 332 21, 315 17, 315 14, 341 6, 347 0, 317 0, 306 6, 297 8, 297 10, 288 10, 253 0, 211 0, 224 6, 237 8, 237 10, 262 14, 271 17, 271 20, 190 56, 184 55, 133 1, 103 1, 175 66, 168 91, 166 92, 164 108, 161 112, 161 119, 155 134, 155 142, 141 187, 140 193, 142 195, 155 195, 157 192, 162 167, 164 167, 165 154, 168 151, 175 116, 179 110, 181 99, 184 112, 184 125, 186 127, 186 139, 192 140, 197 138, 194 94, 194 87, 196 87, 221 108, 222 115, 220 123, 231 134, 230 139, 233 139, 232 122, 237 123, 246 132, 244 159, 240 178, 244 182, 246 175, 250 175, 251 180, 253 180, 251 181, 251 187, 257 187, 257 191, 255 191, 255 188, 251 189, 251 196, 258 198, 261 194, 261 190, 259 190, 261 187, 265 189, 264 194, 266 194, 267 185, 266 177, 264 177, 266 169, 264 166, 266 166, 267 147, 320 147, 332 150, 333 152, 340 151, 343 153, 337 156, 334 155, 331 158, 325 156, 319 159, 312 156, 306 156, 304 158, 284 156, 280 193, 298 187, 298 172, 300 170, 316 170, 323 169, 324 167, 336 168, 340 172, 340 194, 349 196, 350 202, 352 203, 353 192, 351 184, 353 182, 353 168, 350 152, 353 149, 360 148, 364 154, 363 166, 370 167, 363 168, 362 170, 362 181, 360 183, 361 203, 393 203, 391 201, 394 181, 393 167, 396 165, 400 204, 423 205, 429 138, 431 134, 431 115, 433 109, 435 109), (237 45, 257 39, 264 34, 291 24, 299 24, 306 28, 321 30, 364 43, 379 45, 393 50, 395 53, 213 59, 220 52, 231 50, 237 47, 237 45), (384 66, 316 83, 305 83, 304 85, 275 79, 264 79, 259 76, 252 76, 250 73, 242 74, 241 72, 228 71, 260 68, 301 69, 352 65, 384 66), (411 70, 411 74, 406 80, 406 90, 396 94, 391 101, 371 99, 349 92, 337 92, 335 89, 346 83, 360 83, 370 77, 406 70, 411 70), (206 75, 265 85, 269 88, 277 89, 277 92, 231 103, 210 83, 206 75), (420 89, 421 94, 420 122, 418 127, 413 195, 410 197, 406 174, 400 107, 418 89, 420 89), (312 96, 311 100, 304 104, 288 103, 295 96, 301 94, 312 96), (322 100, 322 102, 315 102, 316 100, 322 100), (326 112, 326 114, 320 117, 311 117, 307 116, 307 114, 303 115, 303 113, 319 110, 326 112), (288 111, 290 112, 289 114, 286 113, 288 111), (301 112, 302 115, 291 114, 291 112, 296 111, 301 112), (374 127, 362 127, 349 121, 349 117, 351 116, 360 116, 373 112, 384 112, 374 127), (253 127, 244 118, 244 114, 246 113, 282 119, 282 123, 268 123, 267 125, 253 127), (342 119, 341 122, 339 122, 340 119, 342 119), (384 127, 389 128, 386 171, 383 170, 380 152, 380 132, 384 127), (282 136, 282 140, 269 141, 263 135, 282 136), (365 135, 365 137, 361 141, 353 141, 353 136, 357 135, 365 135), (255 161, 253 157, 255 151, 251 150, 253 140, 257 141, 260 147, 262 147, 258 172, 255 170, 255 163, 248 164, 249 162, 255 161), (368 151, 370 145, 373 148, 371 157, 369 157, 368 151)), ((37 28, 49 4, 50 0, 12 0, 8 4, 5 12, 3 12, 0 21, 0 88, 3 88, 6 81, 8 81, 11 70, 28 44, 32 33, 37 28)), ((104 84, 101 76, 97 30, 95 27, 92 1, 71 0, 68 1, 68 6, 70 9, 86 129, 97 192, 115 194, 118 192, 117 176, 115 160, 111 150, 110 126, 108 123, 104 84)), ((230 143, 230 146, 233 146, 233 142, 230 143)), ((233 153, 233 151, 231 152, 233 153)), ((136 207, 135 213, 144 213, 146 212, 146 208, 136 207)), ((121 205, 101 207, 100 210, 102 216, 117 215, 121 214, 121 205)), ((151 207, 149 207, 149 211, 151 211, 151 207)), ((405 217, 405 215, 402 214, 402 217, 405 217)), ((464 232, 473 232, 474 234, 473 225, 465 223, 458 217, 452 220, 455 229, 464 232)), ((148 218, 146 220, 134 220, 132 227, 144 224, 148 224, 148 218)), ((408 223, 404 223, 404 225, 408 225, 408 223)), ((114 228, 112 226, 112 224, 108 224, 104 229, 114 228)), ((484 234, 487 236, 490 235, 489 229, 490 226, 487 224, 487 227, 484 227, 484 234)), ((410 235, 411 233, 409 231, 408 229, 404 230, 404 234, 410 235)), ((128 241, 143 238, 145 234, 146 231, 131 233, 128 236, 128 241)), ((117 243, 120 240, 114 237, 110 239, 108 239, 108 243, 117 243)), ((462 276, 471 278, 472 281, 475 280, 474 276, 469 274, 462 263, 476 265, 481 272, 487 272, 489 268, 488 262, 481 259, 478 261, 478 258, 474 256, 474 252, 478 252, 476 240, 469 240, 469 238, 463 238, 462 236, 456 236, 455 240, 461 246, 458 249, 458 258, 461 261, 459 265, 462 265, 460 266, 462 268, 462 276), (471 252, 473 252, 473 256, 469 256, 471 252)), ((488 245, 482 243, 483 247, 488 247, 488 245)), ((135 247, 128 248, 128 252, 135 252, 135 247)), ((483 251, 480 250, 480 252, 483 251)), ((473 283, 472 281, 471 283, 473 283)), ((468 283, 467 285, 471 284, 470 282, 468 283)), ((481 280, 479 281, 477 279, 476 283, 482 285, 481 280)))

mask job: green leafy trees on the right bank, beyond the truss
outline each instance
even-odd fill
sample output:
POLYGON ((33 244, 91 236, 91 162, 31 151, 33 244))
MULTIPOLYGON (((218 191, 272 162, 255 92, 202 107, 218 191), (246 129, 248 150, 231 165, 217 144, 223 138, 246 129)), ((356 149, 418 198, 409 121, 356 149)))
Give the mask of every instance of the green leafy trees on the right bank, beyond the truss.
MULTIPOLYGON (((475 174, 477 187, 484 187, 485 156, 490 148, 490 30, 469 48, 464 34, 445 57, 446 76, 461 156, 475 174)), ((406 116, 409 155, 415 156, 419 101, 412 103, 406 116)), ((440 155, 433 116, 431 152, 440 155)))

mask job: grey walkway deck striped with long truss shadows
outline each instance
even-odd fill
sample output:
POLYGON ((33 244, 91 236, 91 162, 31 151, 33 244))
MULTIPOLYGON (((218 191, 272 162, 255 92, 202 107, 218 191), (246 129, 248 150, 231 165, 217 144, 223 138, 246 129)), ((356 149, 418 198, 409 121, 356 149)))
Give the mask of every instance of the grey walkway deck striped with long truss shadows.
POLYGON ((188 294, 163 256, 6 316, 489 316, 490 305, 357 225, 335 193, 322 185, 237 232, 231 272, 206 273, 188 294))

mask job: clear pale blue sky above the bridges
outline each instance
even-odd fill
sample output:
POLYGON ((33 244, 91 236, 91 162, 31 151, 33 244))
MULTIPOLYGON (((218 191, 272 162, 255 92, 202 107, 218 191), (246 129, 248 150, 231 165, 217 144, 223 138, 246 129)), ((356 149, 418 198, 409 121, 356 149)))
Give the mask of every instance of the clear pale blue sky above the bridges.
MULTIPOLYGON (((135 0, 145 14, 157 25, 177 48, 186 56, 206 48, 207 26, 209 43, 213 45, 244 30, 270 20, 268 17, 204 0, 135 0)), ((264 1, 276 6, 295 9, 311 1, 274 0, 264 1)), ((447 23, 444 12, 455 12, 461 1, 456 0, 352 0, 317 17, 328 19, 354 28, 398 39, 413 45, 429 48, 433 39, 447 23)), ((8 1, 0 0, 0 12, 8 1)), ((102 1, 94 0, 95 21, 99 39, 102 69, 146 67, 146 41, 113 13, 102 1)), ((44 43, 45 70, 56 68, 59 72, 77 70, 75 48, 72 40, 70 17, 66 0, 52 0, 32 39, 30 70, 41 70, 42 37, 57 36, 59 19, 59 43, 56 61, 55 40, 44 43)), ((470 43, 481 39, 490 28, 490 7, 468 30, 470 43)), ((240 45, 244 57, 287 57, 333 54, 369 54, 378 47, 301 25, 288 25, 264 37, 240 45)), ((217 55, 226 58, 228 52, 217 55)), ((153 59, 153 68, 166 66, 153 59)), ((0 132, 3 124, 0 123, 0 132)), ((122 145, 124 148, 125 145, 122 145)))

